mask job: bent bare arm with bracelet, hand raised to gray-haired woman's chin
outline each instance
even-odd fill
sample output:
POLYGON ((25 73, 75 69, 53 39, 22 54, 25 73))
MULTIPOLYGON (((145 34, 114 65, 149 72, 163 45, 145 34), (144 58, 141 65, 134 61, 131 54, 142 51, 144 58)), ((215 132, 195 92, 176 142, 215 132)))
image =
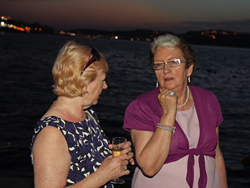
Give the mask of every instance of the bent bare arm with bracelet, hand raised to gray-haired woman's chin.
MULTIPOLYGON (((158 96, 163 115, 160 123, 174 126, 176 116, 176 96, 170 96, 167 90, 158 96)), ((143 173, 154 176, 166 161, 172 138, 172 132, 157 128, 155 132, 131 130, 135 147, 136 161, 143 173)))

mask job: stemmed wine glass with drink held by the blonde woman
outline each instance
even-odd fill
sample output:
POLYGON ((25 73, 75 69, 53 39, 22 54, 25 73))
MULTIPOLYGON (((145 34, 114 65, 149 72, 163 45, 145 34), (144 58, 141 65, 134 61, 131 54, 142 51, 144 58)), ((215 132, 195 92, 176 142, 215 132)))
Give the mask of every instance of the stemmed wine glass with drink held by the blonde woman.
MULTIPOLYGON (((121 155, 121 152, 123 150, 123 145, 127 142, 126 138, 123 137, 114 137, 112 139, 112 144, 113 144, 113 148, 112 148, 112 153, 113 153, 113 157, 117 157, 119 155, 121 155)), ((125 180, 117 178, 117 179, 113 179, 110 181, 113 184, 123 184, 125 183, 125 180)))

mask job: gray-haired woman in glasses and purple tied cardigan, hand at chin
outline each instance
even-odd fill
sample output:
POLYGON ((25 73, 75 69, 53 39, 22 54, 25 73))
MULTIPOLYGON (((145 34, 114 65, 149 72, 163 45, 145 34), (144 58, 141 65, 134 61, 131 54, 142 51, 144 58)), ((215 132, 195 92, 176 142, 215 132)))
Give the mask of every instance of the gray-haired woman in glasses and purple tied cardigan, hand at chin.
POLYGON ((223 117, 211 91, 190 85, 191 46, 173 35, 159 36, 150 64, 159 87, 132 101, 124 119, 139 165, 132 187, 226 188, 219 147, 223 117))

